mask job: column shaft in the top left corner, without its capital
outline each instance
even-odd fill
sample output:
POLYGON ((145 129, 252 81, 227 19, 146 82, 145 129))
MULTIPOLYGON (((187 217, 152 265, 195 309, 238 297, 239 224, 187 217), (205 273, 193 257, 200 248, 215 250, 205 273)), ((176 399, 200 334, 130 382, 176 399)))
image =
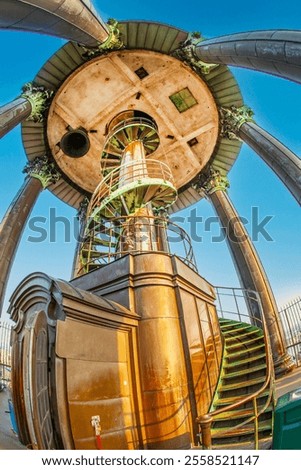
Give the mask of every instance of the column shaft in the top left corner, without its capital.
POLYGON ((94 46, 107 25, 89 0, 0 0, 0 28, 33 31, 94 46))

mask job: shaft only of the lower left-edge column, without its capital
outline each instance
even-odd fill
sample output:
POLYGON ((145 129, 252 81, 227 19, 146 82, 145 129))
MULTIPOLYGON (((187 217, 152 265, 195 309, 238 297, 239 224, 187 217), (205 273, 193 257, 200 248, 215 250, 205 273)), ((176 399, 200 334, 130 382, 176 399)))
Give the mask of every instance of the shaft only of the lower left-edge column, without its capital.
POLYGON ((35 178, 26 178, 0 225, 0 315, 10 270, 26 221, 42 191, 35 178))

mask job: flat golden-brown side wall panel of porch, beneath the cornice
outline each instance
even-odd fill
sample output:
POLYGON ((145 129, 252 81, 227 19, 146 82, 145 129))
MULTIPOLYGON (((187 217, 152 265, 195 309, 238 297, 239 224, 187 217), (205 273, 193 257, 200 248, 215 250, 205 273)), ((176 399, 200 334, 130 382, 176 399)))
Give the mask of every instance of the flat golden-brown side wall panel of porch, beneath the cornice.
POLYGON ((139 448, 131 335, 126 324, 114 328, 110 322, 95 326, 67 319, 57 326, 56 354, 66 361, 65 393, 76 449, 95 449, 94 415, 100 416, 105 449, 139 448))

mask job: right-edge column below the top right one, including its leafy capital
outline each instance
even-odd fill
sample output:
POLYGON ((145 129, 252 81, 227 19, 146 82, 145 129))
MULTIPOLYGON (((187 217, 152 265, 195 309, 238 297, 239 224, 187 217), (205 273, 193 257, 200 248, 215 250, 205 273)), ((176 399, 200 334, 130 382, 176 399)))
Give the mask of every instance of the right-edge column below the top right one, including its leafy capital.
POLYGON ((301 160, 253 121, 247 106, 220 108, 221 134, 248 144, 285 184, 301 204, 301 160))

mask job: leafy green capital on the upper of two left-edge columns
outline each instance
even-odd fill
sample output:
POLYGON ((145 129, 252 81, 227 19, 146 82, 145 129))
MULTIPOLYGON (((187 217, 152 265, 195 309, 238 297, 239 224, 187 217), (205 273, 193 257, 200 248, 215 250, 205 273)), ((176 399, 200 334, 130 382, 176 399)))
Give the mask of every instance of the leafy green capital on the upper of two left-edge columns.
POLYGON ((45 112, 49 108, 52 90, 43 86, 37 86, 34 82, 28 82, 22 87, 22 98, 26 98, 31 104, 31 113, 27 121, 43 122, 45 112))

